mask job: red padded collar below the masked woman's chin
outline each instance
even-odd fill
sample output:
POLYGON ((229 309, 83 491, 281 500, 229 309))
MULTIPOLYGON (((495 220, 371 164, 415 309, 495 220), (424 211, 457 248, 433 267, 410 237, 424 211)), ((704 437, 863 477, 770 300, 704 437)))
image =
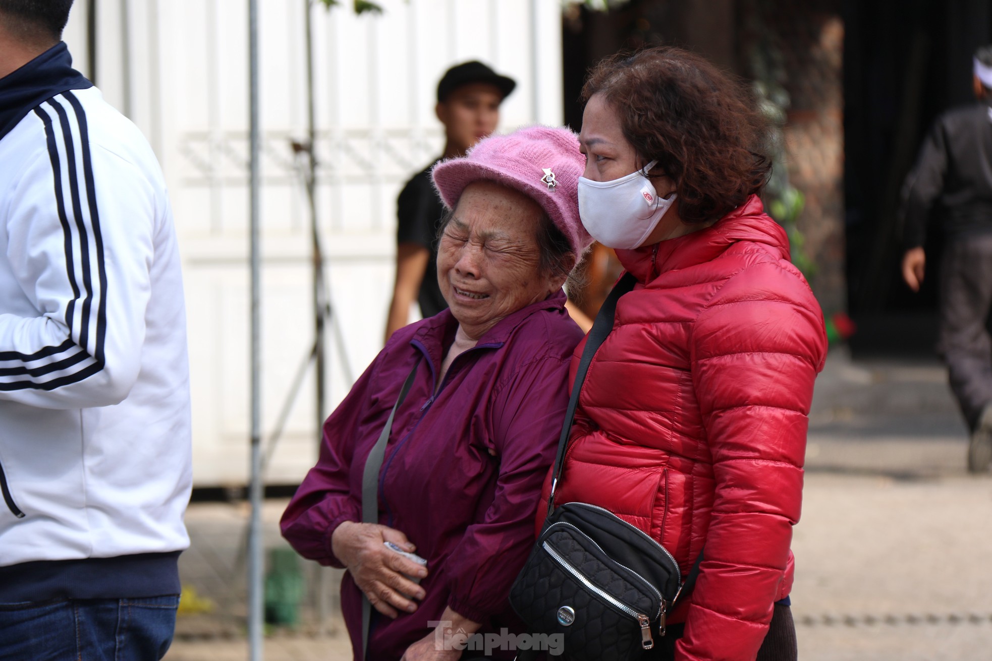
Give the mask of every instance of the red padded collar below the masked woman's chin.
POLYGON ((786 231, 765 213, 757 195, 704 230, 616 253, 624 269, 647 283, 670 271, 710 262, 739 241, 764 244, 781 259, 789 259, 786 231))

